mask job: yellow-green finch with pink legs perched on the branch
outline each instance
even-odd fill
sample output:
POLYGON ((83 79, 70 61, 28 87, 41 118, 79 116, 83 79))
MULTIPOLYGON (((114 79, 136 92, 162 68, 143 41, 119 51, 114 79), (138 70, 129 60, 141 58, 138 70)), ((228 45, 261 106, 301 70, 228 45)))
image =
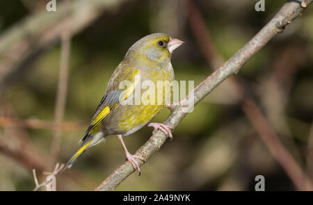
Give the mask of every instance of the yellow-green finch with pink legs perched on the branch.
MULTIPOLYGON (((140 85, 136 79, 140 78, 141 81, 152 83, 174 81, 175 75, 170 58, 172 51, 183 43, 182 40, 171 38, 165 33, 153 33, 141 38, 128 49, 124 59, 113 72, 88 129, 79 141, 81 143, 79 150, 70 158, 62 171, 72 167, 84 151, 104 142, 106 136, 116 135, 122 143, 127 160, 134 167, 134 170, 141 174, 136 159, 141 161, 145 161, 145 159, 130 154, 122 137, 129 136, 147 125, 154 127, 152 133, 159 129, 172 139, 170 126, 157 122, 149 124, 150 120, 167 106, 164 99, 172 95, 172 88, 161 94, 155 92, 157 93, 154 94, 155 97, 162 99, 161 103, 145 104, 139 101, 136 104, 134 103, 136 101, 136 93, 134 95, 134 92, 140 85), (122 82, 129 84, 123 87, 123 85, 121 86, 122 82)), ((164 90, 164 87, 160 89, 164 90)), ((140 93, 143 91, 147 91, 147 89, 141 88, 140 93)), ((153 96, 150 97, 153 98, 153 96)))

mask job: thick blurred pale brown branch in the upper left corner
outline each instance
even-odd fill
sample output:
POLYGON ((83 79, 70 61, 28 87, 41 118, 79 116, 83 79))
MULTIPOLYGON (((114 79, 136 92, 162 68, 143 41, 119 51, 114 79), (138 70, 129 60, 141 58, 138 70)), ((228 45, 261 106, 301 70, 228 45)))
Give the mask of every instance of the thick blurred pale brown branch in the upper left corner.
POLYGON ((67 28, 72 35, 90 25, 103 10, 114 10, 129 0, 77 0, 69 2, 69 15, 63 19, 66 6, 57 3, 56 11, 42 10, 12 26, 0 36, 0 90, 4 92, 13 74, 28 67, 35 58, 60 40, 67 28))

